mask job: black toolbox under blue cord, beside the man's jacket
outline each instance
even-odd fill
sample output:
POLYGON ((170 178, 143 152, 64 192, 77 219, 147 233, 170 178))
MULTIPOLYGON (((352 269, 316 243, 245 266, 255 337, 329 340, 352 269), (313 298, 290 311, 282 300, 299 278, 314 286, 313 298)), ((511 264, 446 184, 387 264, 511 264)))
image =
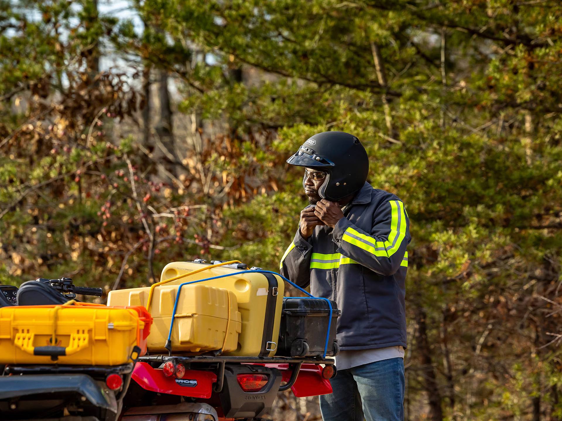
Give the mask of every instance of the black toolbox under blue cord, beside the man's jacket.
MULTIPOLYGON (((326 355, 339 352, 336 327, 341 310, 332 303, 332 323, 326 355)), ((319 298, 283 298, 279 344, 275 355, 321 356, 324 354, 328 331, 328 302, 319 298)))

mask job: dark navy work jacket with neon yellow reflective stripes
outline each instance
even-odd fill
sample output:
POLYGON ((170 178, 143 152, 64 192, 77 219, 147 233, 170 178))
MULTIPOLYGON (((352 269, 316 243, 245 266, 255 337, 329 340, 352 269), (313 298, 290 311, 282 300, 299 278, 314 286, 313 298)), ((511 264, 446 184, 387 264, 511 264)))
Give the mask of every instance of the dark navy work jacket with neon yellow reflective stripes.
POLYGON ((406 347, 406 246, 411 237, 404 204, 368 183, 345 218, 332 229, 300 228, 283 255, 280 273, 342 310, 337 338, 342 350, 406 347))

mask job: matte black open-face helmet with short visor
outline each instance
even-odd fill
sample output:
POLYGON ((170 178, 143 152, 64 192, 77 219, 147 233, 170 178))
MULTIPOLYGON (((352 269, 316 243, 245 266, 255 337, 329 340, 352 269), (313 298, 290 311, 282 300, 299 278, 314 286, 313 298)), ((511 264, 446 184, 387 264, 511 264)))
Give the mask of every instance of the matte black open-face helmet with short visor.
MULTIPOLYGON (((343 131, 312 136, 287 162, 328 173, 318 190, 321 198, 338 202, 361 189, 369 173, 369 157, 359 139, 343 131)), ((302 180, 302 184, 306 181, 302 180)))

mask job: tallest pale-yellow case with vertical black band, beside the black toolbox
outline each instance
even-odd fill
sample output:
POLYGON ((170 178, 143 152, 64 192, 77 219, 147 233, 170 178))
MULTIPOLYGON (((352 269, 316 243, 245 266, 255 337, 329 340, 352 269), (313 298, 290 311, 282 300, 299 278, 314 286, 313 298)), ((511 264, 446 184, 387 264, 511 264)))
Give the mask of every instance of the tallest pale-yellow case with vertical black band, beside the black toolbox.
MULTIPOLYGON (((168 263, 162 269, 160 280, 169 280, 207 267, 210 265, 206 263, 168 263)), ((237 349, 230 351, 227 355, 273 356, 279 340, 279 324, 283 307, 283 280, 270 273, 237 274, 238 272, 243 272, 243 270, 231 267, 210 267, 165 285, 179 285, 184 282, 232 274, 233 276, 199 284, 226 288, 236 295, 238 311, 242 314, 242 332, 238 335, 237 349)))

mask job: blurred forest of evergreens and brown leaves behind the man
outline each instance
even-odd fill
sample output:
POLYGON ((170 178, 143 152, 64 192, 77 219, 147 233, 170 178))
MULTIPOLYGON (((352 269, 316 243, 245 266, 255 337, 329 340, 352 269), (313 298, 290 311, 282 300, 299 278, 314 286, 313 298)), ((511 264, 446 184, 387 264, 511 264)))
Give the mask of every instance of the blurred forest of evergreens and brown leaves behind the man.
POLYGON ((561 420, 561 69, 558 0, 0 0, 0 281, 276 270, 347 131, 410 216, 406 419, 561 420))

